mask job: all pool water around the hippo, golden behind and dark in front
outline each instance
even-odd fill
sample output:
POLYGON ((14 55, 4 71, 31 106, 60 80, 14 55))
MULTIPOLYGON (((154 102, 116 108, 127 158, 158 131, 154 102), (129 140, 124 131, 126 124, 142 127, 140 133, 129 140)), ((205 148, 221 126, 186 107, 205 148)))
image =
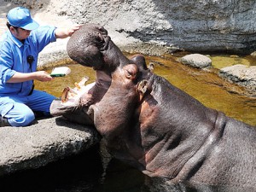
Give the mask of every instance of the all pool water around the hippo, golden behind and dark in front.
MULTIPOLYGON (((189 95, 194 96, 209 108, 216 108, 228 116, 250 125, 256 125, 256 98, 247 96, 241 87, 225 82, 213 72, 205 72, 186 67, 177 62, 181 55, 166 57, 147 56, 147 63, 155 64, 154 73, 168 79, 172 84, 189 95)), ((220 68, 223 63, 233 65, 237 57, 229 55, 211 55, 212 65, 220 68), (218 63, 218 61, 221 61, 218 63)), ((240 58, 247 65, 256 63, 252 58, 240 58)), ((61 64, 67 65, 65 64, 61 64)), ((72 73, 64 78, 55 78, 52 82, 36 82, 36 89, 47 90, 55 96, 68 85, 74 86, 84 75, 94 81, 94 71, 89 67, 69 62, 72 73)), ((51 68, 48 69, 50 73, 51 68)), ((119 160, 111 160, 100 144, 82 154, 51 163, 38 170, 18 172, 8 177, 0 177, 2 192, 192 192, 221 191, 211 186, 189 187, 163 185, 162 181, 149 178, 131 166, 119 160), (108 162, 109 161, 109 162, 108 162)), ((226 190, 224 190, 226 191, 226 190)), ((231 190, 232 191, 232 190, 231 190)), ((235 190, 233 190, 235 191, 235 190)))

